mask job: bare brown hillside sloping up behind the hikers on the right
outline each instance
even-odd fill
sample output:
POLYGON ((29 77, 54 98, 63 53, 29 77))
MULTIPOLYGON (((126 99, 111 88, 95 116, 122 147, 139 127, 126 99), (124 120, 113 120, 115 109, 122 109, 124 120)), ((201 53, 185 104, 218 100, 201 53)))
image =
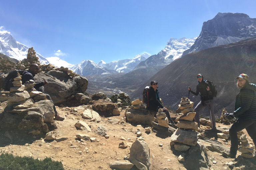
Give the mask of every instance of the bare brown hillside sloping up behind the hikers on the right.
MULTIPOLYGON (((256 83, 256 39, 221 45, 208 48, 199 52, 187 54, 160 70, 146 81, 131 96, 140 98, 145 86, 151 80, 159 82, 158 90, 164 105, 169 105, 172 110, 177 109, 177 101, 182 96, 188 97, 188 86, 196 91, 198 83, 196 75, 202 73, 204 79, 216 85, 218 91, 215 98, 215 113, 220 116, 221 110, 231 113, 234 111, 235 96, 239 89, 236 87, 236 77, 241 73, 248 74, 251 83, 256 83)), ((198 103, 200 96, 190 93, 190 99, 198 103)), ((208 111, 202 111, 208 116, 208 111)))

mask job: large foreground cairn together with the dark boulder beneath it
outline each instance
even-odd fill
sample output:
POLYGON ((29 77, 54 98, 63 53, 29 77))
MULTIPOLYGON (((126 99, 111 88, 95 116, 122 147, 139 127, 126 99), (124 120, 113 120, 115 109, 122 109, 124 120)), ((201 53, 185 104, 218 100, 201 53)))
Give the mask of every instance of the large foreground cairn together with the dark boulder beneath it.
POLYGON ((193 122, 196 115, 192 109, 193 102, 188 98, 182 97, 179 105, 179 110, 182 116, 176 118, 177 123, 176 131, 171 135, 170 146, 174 146, 177 151, 183 152, 177 159, 184 162, 183 165, 186 169, 210 169, 211 161, 207 156, 207 149, 202 144, 197 132, 198 124, 193 122), (186 159, 185 159, 186 158, 186 159))

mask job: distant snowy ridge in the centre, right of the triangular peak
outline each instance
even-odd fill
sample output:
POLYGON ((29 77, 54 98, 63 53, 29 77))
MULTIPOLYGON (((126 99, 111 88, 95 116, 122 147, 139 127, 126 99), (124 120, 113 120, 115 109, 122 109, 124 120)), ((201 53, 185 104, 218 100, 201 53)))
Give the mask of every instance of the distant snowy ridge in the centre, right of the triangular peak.
POLYGON ((104 61, 100 61, 98 63, 99 66, 105 67, 109 70, 116 70, 117 72, 128 73, 133 70, 136 65, 138 65, 141 61, 146 60, 150 55, 147 53, 143 53, 141 55, 136 55, 131 59, 124 59, 118 61, 112 61, 110 63, 105 63, 104 61))

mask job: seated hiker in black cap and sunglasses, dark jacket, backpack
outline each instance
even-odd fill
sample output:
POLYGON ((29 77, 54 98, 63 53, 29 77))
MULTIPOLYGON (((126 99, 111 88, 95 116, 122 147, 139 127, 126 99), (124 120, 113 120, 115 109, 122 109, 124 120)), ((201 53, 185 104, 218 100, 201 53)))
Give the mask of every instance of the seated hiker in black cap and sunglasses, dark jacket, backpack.
POLYGON ((150 87, 149 87, 149 91, 148 91, 147 110, 158 111, 159 108, 162 108, 163 112, 166 114, 166 116, 169 120, 169 123, 174 124, 173 120, 170 117, 168 109, 166 109, 160 102, 159 93, 157 90, 157 88, 158 88, 157 84, 158 84, 158 82, 156 82, 156 81, 150 82, 150 87))

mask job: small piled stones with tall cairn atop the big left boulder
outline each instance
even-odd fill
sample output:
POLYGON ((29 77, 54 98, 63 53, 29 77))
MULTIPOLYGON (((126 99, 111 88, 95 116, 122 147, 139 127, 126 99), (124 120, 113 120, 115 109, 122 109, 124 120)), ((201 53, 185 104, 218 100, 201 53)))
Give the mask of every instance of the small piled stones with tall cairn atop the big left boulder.
POLYGON ((57 70, 57 71, 62 71, 66 72, 70 77, 76 77, 79 76, 79 74, 76 74, 72 70, 70 70, 67 67, 61 66, 60 68, 55 67, 53 64, 41 64, 40 61, 38 60, 39 57, 36 56, 36 52, 33 47, 28 49, 28 54, 27 58, 24 58, 23 60, 19 61, 17 65, 12 68, 12 70, 19 69, 19 70, 28 70, 29 66, 33 63, 36 63, 39 66, 39 72, 41 71, 49 71, 49 70, 57 70))

